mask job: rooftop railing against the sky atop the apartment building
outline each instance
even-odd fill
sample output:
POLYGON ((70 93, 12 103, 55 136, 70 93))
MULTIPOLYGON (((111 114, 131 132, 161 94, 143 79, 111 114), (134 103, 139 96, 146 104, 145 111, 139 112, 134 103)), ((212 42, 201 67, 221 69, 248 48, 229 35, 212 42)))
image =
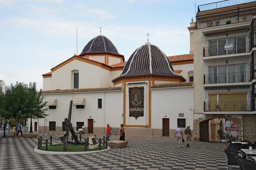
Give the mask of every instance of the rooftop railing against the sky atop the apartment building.
POLYGON ((227 6, 234 6, 234 5, 239 5, 243 3, 250 3, 254 1, 255 0, 223 0, 215 3, 207 3, 204 5, 198 6, 198 12, 217 9, 217 8, 223 8, 227 6))

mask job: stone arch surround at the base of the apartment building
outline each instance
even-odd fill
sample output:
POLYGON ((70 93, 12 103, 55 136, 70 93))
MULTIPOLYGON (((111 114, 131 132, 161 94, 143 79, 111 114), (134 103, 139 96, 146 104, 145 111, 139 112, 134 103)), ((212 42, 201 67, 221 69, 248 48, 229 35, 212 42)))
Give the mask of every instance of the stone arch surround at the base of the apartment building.
POLYGON ((211 119, 228 119, 232 120, 238 123, 238 137, 239 140, 242 140, 243 137, 243 120, 232 117, 230 115, 226 114, 212 114, 212 115, 205 115, 204 117, 200 117, 198 119, 194 119, 194 129, 193 129, 193 134, 194 134, 194 140, 198 141, 208 141, 209 140, 209 120, 211 119), (201 137, 200 137, 201 136, 201 137))

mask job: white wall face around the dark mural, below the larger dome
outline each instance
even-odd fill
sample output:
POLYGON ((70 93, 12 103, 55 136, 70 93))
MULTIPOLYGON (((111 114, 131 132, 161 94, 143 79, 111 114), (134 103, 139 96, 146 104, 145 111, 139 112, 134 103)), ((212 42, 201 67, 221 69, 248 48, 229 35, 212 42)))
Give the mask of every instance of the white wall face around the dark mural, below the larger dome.
MULTIPOLYGON (((147 82, 148 81, 143 81, 147 82)), ((125 99, 125 105, 126 105, 126 110, 125 110, 125 124, 126 125, 148 125, 148 84, 141 84, 141 85, 127 85, 127 83, 132 83, 132 82, 126 82, 126 99, 125 99), (134 87, 143 87, 144 91, 144 115, 141 117, 138 117, 137 120, 134 117, 129 116, 129 88, 134 88, 134 87)))

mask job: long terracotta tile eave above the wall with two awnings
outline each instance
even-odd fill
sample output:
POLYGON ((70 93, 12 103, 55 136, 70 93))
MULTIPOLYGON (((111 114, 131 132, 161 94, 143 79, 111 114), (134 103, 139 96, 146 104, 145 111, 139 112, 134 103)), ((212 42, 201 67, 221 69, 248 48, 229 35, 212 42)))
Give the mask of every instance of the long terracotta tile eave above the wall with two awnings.
POLYGON ((49 90, 49 91, 42 91, 42 94, 79 93, 79 92, 93 92, 93 91, 122 91, 122 87, 111 87, 111 88, 76 88, 76 89, 66 89, 66 90, 49 90))

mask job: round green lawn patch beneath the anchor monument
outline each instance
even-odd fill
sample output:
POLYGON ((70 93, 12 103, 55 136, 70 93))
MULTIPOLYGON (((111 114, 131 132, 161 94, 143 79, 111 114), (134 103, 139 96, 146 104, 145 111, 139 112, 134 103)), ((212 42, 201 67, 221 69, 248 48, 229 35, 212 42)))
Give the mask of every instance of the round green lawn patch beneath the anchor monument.
MULTIPOLYGON (((105 146, 102 146, 101 150, 107 149, 105 146)), ((40 150, 45 150, 45 146, 40 147, 40 150)), ((96 149, 89 149, 89 146, 87 146, 87 151, 95 151, 99 150, 99 147, 96 149)), ((63 144, 58 146, 52 146, 48 145, 47 151, 53 151, 53 152, 63 152, 63 144)), ((67 152, 84 152, 84 145, 67 145, 67 152)))

